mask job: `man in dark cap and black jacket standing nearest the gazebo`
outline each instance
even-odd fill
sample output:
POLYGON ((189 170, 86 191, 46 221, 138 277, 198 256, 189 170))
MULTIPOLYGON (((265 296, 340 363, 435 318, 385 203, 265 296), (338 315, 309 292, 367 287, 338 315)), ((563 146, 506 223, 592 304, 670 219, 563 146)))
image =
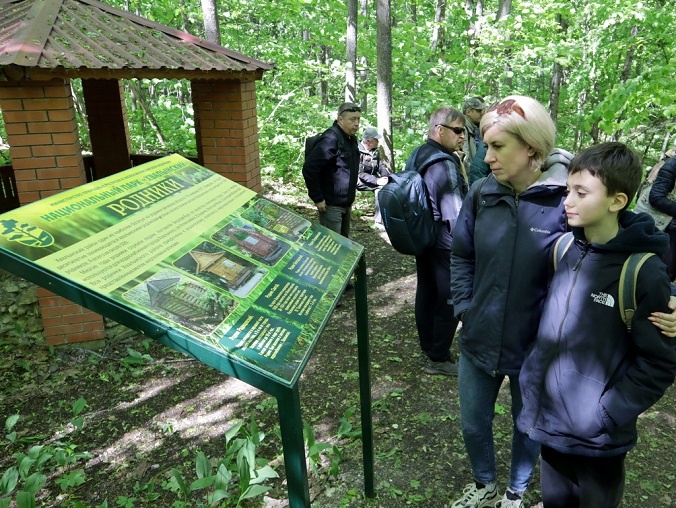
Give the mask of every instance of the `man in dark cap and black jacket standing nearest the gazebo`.
POLYGON ((345 237, 350 236, 350 214, 357 188, 361 109, 346 102, 338 118, 312 148, 303 164, 308 196, 317 207, 319 223, 345 237))

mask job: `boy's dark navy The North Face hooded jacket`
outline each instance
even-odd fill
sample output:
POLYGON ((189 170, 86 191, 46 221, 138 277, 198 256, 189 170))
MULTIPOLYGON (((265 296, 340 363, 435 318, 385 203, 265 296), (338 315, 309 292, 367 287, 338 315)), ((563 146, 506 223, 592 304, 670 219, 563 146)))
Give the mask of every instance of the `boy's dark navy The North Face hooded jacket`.
POLYGON ((561 453, 608 457, 636 444, 636 420, 672 384, 676 341, 648 316, 669 312, 669 276, 660 256, 669 239, 646 214, 623 212, 620 232, 575 242, 561 259, 537 340, 519 376, 517 426, 561 453), (654 252, 638 272, 631 332, 618 308, 622 265, 632 252, 654 252))

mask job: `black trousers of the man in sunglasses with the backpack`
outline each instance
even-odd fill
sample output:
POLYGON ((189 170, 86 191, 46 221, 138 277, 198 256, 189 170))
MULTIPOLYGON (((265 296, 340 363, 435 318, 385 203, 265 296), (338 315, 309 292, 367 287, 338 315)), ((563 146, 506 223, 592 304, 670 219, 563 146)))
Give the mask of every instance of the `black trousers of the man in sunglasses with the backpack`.
POLYGON ((458 328, 451 303, 451 251, 428 249, 416 256, 415 266, 415 324, 420 348, 430 360, 445 362, 451 358, 451 344, 458 328))

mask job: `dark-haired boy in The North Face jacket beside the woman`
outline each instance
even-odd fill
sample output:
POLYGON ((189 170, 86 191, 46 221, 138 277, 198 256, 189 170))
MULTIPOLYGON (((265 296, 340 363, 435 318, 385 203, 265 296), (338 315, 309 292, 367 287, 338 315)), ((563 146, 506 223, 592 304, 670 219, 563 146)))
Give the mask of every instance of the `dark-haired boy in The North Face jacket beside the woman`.
POLYGON ((676 341, 650 321, 668 313, 669 277, 660 256, 667 236, 645 214, 626 210, 641 164, 621 143, 603 143, 568 167, 564 201, 572 242, 558 263, 537 339, 519 375, 517 426, 541 449, 545 508, 619 506, 624 460, 638 416, 673 383, 676 341), (636 308, 625 326, 618 281, 632 253, 636 308))

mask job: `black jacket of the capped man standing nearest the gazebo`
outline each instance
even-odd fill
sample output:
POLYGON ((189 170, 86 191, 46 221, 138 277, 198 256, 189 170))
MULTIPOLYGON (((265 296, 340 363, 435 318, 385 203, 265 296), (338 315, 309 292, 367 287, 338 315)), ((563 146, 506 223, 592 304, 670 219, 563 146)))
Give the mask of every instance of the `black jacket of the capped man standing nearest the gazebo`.
POLYGON ((334 121, 303 164, 308 196, 314 203, 326 201, 329 206, 348 207, 354 202, 358 171, 357 140, 334 121))

